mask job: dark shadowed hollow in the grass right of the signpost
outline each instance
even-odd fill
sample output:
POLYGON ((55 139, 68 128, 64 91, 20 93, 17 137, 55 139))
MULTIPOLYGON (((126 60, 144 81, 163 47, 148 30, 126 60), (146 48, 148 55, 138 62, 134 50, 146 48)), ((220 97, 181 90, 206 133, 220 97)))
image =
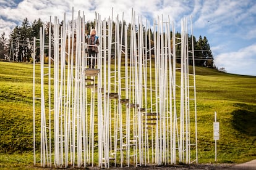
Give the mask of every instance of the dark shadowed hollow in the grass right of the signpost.
POLYGON ((249 136, 256 136, 256 106, 245 103, 236 103, 235 105, 240 109, 231 113, 234 128, 249 136))

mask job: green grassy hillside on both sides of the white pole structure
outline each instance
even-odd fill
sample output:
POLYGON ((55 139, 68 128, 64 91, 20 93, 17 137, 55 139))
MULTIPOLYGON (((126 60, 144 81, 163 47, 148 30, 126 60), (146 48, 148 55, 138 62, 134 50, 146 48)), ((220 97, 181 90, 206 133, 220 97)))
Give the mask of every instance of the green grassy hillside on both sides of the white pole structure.
MULTIPOLYGON (((198 162, 215 161, 214 111, 220 122, 218 163, 255 159, 256 77, 202 67, 196 72, 198 162)), ((32 88, 32 64, 0 62, 0 168, 33 164, 32 88)))

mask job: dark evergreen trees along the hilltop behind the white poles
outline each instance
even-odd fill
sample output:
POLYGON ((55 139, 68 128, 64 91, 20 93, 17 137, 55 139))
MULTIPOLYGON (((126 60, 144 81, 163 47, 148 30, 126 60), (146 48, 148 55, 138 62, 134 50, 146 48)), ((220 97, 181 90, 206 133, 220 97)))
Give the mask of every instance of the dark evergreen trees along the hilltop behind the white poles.
MULTIPOLYGON (((9 39, 6 38, 6 34, 2 33, 0 35, 0 59, 5 60, 14 60, 16 62, 31 62, 32 61, 32 41, 35 37, 36 39, 40 38, 40 28, 45 24, 45 41, 48 43, 49 37, 49 22, 44 23, 40 18, 38 20, 34 20, 32 23, 28 21, 28 18, 25 18, 20 26, 15 26, 15 28, 9 34, 9 39)), ((114 28, 113 22, 113 28, 114 28)), ((62 25, 62 23, 61 23, 62 25)), ((124 22, 124 25, 127 25, 124 22)), ((90 28, 94 28, 95 22, 87 22, 85 23, 85 33, 89 33, 90 28)), ((127 41, 128 46, 130 44, 130 27, 131 24, 127 25, 127 41)), ((120 28, 121 29, 121 28, 120 28)), ((151 37, 153 39, 153 31, 145 30, 143 28, 143 33, 145 34, 147 31, 150 31, 151 37)), ((114 32, 114 31, 113 31, 114 32)), ((124 32, 124 31, 123 31, 124 32)), ((53 34, 53 31, 52 33, 53 34)), ((171 34, 173 34, 171 32, 171 34)), ((175 33, 177 38, 181 38, 181 33, 175 33)), ((114 38, 114 36, 113 36, 114 38)), ((215 68, 213 63, 213 54, 211 52, 210 44, 206 36, 199 36, 198 39, 195 36, 189 36, 189 45, 192 43, 192 39, 194 41, 194 56, 195 56, 195 65, 202 66, 202 67, 210 67, 215 68)), ((36 44, 36 56, 39 57, 40 49, 39 49, 39 42, 36 44)), ((153 44, 151 44, 153 47, 153 44)), ((47 56, 48 54, 46 54, 47 56)), ((179 58, 181 55, 181 46, 176 47, 176 56, 179 58)), ((189 54, 192 56, 192 54, 189 54)), ((177 60, 179 62, 179 60, 177 60)))

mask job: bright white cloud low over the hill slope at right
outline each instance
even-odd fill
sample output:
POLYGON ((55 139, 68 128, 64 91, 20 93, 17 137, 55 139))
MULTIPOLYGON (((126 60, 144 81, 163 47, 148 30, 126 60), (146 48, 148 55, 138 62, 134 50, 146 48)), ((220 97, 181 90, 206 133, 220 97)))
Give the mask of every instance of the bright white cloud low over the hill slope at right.
POLYGON ((256 76, 256 44, 239 51, 219 54, 215 57, 218 68, 224 67, 229 73, 256 76))

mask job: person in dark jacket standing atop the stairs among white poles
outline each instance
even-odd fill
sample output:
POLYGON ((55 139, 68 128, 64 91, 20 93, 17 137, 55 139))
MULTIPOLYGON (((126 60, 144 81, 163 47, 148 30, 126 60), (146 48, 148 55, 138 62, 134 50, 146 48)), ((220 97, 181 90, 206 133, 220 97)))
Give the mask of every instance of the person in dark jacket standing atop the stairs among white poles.
POLYGON ((99 42, 99 37, 96 36, 96 30, 92 29, 90 31, 90 35, 88 36, 88 41, 87 41, 87 51, 88 51, 88 63, 87 65, 89 68, 94 68, 95 67, 95 59, 97 58, 98 54, 98 45, 100 45, 99 42))

